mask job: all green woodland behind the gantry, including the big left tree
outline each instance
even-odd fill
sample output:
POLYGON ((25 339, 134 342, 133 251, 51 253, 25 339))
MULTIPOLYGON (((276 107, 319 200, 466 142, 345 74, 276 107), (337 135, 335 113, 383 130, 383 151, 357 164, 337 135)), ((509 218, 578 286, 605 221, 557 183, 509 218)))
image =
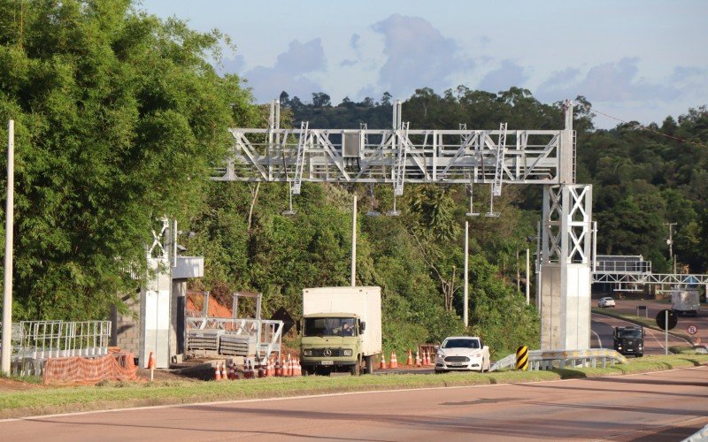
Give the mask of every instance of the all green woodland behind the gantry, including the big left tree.
MULTIPOLYGON (((205 257, 205 277, 194 288, 225 300, 255 290, 266 314, 285 307, 298 316, 303 287, 349 283, 358 194, 357 282, 383 288, 386 348, 461 332, 481 335, 500 354, 535 345, 538 316, 517 289, 517 256, 535 236, 539 189, 505 187, 495 205, 501 217, 471 220, 471 325, 464 331, 465 187, 407 186, 399 217, 367 217, 392 208, 390 187, 304 183, 296 215, 283 215, 287 186, 208 178, 227 151, 227 127, 265 127, 268 114, 242 79, 212 67, 228 43, 218 31, 157 19, 130 0, 19 8, 0 0, 0 118, 16 125, 17 320, 97 319, 112 306, 125 309, 121 298, 135 293, 133 276, 145 274, 145 247, 163 216, 193 232, 181 243, 205 257)), ((319 92, 304 103, 283 93, 281 125, 388 127, 391 102, 384 94, 379 102, 333 105, 319 92)), ((595 185, 598 251, 641 254, 667 271, 664 224, 675 222, 680 263, 708 270, 708 111, 688 110, 660 126, 596 130, 591 104, 576 103, 578 181, 595 185)), ((525 89, 460 86, 443 95, 417 90, 404 101, 404 120, 412 128, 505 121, 510 129, 544 129, 561 127, 563 117, 559 103, 539 103, 525 89)))

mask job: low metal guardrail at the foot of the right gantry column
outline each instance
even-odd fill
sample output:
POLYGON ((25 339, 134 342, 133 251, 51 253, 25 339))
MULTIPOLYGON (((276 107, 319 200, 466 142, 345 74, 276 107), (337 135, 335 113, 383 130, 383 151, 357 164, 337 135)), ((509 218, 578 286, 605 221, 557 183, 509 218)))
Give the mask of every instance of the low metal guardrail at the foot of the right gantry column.
MULTIPOLYGON (((607 367, 607 364, 627 363, 627 358, 609 348, 588 350, 531 350, 528 352, 529 370, 553 370, 576 367, 607 367)), ((496 371, 516 366, 516 354, 509 354, 489 368, 496 371)))

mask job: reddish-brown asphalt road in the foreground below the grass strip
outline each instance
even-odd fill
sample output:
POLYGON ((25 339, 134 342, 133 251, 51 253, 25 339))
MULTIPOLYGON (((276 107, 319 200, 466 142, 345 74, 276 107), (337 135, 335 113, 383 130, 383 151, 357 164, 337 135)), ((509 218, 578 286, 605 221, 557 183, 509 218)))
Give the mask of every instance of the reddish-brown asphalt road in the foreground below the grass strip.
MULTIPOLYGON (((474 376, 474 374, 471 374, 474 376)), ((680 440, 708 423, 708 367, 0 421, 3 440, 680 440)))

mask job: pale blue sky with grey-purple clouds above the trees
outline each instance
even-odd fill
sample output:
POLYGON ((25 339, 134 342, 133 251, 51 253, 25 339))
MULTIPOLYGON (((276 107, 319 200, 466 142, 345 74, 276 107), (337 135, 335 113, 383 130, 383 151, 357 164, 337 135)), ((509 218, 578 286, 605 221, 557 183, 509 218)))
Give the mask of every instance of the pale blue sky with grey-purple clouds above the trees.
MULTIPOLYGON (((585 96, 596 112, 659 126, 708 104, 706 0, 142 0, 142 11, 229 35, 219 72, 258 103, 288 92, 354 102, 458 86, 585 96)), ((403 109, 405 119, 405 108, 403 109)), ((619 120, 596 113, 595 124, 619 120)), ((527 127, 533 129, 533 127, 527 127)))

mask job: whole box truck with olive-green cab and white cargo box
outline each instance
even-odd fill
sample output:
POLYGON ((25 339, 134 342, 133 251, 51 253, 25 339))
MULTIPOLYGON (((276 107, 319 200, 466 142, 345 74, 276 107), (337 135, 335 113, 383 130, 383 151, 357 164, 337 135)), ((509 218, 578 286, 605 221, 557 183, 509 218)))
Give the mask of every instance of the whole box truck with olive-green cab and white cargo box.
POLYGON ((381 354, 381 287, 305 288, 300 331, 305 376, 372 373, 381 354))

